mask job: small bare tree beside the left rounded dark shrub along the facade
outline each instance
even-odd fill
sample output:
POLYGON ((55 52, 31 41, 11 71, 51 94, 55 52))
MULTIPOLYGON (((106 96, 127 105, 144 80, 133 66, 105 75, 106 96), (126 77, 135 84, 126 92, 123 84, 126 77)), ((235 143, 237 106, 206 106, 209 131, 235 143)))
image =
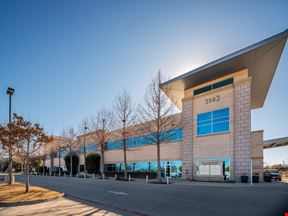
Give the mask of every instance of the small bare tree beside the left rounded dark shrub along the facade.
POLYGON ((74 131, 74 128, 72 127, 67 128, 66 130, 64 129, 62 136, 64 138, 63 150, 66 151, 70 157, 70 177, 72 177, 72 156, 73 153, 77 150, 79 142, 77 140, 77 135, 74 131))

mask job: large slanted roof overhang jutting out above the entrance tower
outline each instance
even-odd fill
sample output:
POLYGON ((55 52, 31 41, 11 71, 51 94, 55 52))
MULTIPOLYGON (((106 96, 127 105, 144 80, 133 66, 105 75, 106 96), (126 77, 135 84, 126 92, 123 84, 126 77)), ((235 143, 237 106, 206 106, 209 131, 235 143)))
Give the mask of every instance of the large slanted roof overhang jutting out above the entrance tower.
POLYGON ((248 69, 249 76, 252 77, 251 108, 263 107, 287 36, 288 29, 164 82, 160 87, 181 110, 185 90, 248 69))

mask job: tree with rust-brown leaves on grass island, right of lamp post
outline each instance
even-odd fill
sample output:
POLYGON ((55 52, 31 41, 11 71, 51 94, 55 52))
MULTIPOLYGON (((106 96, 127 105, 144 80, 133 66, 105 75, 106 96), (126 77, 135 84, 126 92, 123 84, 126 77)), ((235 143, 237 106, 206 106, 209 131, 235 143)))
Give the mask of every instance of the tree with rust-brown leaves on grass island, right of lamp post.
POLYGON ((17 156, 24 164, 25 172, 25 191, 29 192, 29 163, 33 156, 37 155, 37 151, 53 138, 47 136, 44 129, 38 123, 32 124, 23 117, 13 114, 13 122, 17 129, 17 156))

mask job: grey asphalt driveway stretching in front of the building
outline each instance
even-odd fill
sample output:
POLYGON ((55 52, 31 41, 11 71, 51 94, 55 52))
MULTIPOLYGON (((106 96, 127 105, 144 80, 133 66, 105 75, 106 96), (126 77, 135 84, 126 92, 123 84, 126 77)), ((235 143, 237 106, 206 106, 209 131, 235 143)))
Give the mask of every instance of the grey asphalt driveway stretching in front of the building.
MULTIPOLYGON (((22 176, 17 179, 23 181, 22 176)), ((159 185, 145 181, 31 176, 31 184, 64 192, 66 198, 88 206, 112 209, 124 215, 283 216, 288 211, 288 184, 279 182, 250 186, 176 181, 159 185)))

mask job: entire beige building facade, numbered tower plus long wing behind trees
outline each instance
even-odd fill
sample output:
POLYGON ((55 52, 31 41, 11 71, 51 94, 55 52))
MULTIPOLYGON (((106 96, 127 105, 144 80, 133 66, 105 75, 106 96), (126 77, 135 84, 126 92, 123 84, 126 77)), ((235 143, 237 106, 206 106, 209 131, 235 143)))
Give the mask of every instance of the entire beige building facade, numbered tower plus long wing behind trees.
MULTIPOLYGON (((186 90, 184 95, 182 113, 174 116, 173 125, 182 128, 182 140, 162 143, 161 161, 182 161, 183 179, 239 182, 242 175, 247 175, 250 180, 252 160, 252 173, 259 175, 262 181, 263 131, 251 132, 251 78, 248 70, 195 86, 186 90), (229 78, 233 78, 233 83, 194 95, 194 90, 229 78), (197 115, 221 109, 229 109, 229 130, 198 135, 197 115)), ((114 139, 117 134, 115 131, 114 139)), ((87 146, 95 144, 93 134, 87 134, 85 142, 87 146)), ((79 137, 79 143, 83 143, 83 136, 79 137)), ((83 154, 79 156, 80 165, 83 165, 83 154)), ((123 157, 123 149, 106 150, 105 164, 123 163, 123 157)), ((157 161, 156 145, 127 148, 128 163, 153 161, 157 161)))

